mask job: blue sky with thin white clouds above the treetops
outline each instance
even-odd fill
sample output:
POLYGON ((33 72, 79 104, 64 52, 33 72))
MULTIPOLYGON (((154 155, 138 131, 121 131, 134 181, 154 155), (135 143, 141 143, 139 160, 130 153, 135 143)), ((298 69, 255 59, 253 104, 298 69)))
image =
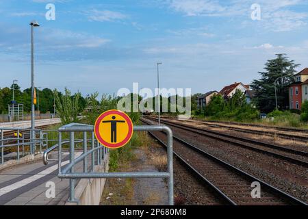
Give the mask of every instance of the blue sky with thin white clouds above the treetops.
POLYGON ((154 89, 162 62, 160 87, 205 93, 251 83, 277 53, 308 67, 308 0, 0 0, 0 88, 31 86, 33 20, 42 88, 154 89))

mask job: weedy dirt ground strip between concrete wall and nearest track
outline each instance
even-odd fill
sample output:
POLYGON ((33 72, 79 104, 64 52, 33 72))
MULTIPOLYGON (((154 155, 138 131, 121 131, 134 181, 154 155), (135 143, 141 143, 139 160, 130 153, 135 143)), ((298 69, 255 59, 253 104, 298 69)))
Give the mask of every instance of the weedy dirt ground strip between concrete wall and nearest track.
MULTIPOLYGON (((153 141, 151 146, 133 150, 129 164, 121 165, 117 172, 164 171, 166 152, 153 141)), ((165 179, 108 179, 101 205, 167 205, 168 187, 165 179)))

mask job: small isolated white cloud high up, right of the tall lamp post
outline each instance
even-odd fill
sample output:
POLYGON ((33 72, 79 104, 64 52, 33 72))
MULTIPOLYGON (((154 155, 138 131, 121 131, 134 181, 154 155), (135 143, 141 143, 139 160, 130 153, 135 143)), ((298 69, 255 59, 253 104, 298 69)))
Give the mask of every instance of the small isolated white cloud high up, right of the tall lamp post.
POLYGON ((124 20, 128 18, 126 14, 123 14, 121 12, 114 12, 110 10, 91 10, 88 14, 88 19, 90 21, 118 21, 118 20, 124 20))

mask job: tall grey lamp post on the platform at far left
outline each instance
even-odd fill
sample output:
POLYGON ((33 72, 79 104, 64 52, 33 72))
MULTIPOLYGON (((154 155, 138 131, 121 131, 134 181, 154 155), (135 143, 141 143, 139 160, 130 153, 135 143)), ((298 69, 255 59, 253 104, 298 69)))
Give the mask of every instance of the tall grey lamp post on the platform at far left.
POLYGON ((34 107, 34 27, 40 27, 37 21, 32 21, 31 25, 31 153, 35 153, 35 107, 34 107))

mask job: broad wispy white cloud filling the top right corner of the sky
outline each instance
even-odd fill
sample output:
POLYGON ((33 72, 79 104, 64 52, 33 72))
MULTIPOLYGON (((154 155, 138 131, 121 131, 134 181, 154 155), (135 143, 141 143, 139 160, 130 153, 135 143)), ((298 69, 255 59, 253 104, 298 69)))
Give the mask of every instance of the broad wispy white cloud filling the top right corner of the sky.
POLYGON ((296 12, 291 8, 307 4, 303 0, 259 0, 261 20, 251 20, 251 5, 255 0, 166 0, 168 7, 184 16, 218 16, 244 18, 242 27, 258 25, 270 31, 292 31, 307 25, 307 12, 296 12))

